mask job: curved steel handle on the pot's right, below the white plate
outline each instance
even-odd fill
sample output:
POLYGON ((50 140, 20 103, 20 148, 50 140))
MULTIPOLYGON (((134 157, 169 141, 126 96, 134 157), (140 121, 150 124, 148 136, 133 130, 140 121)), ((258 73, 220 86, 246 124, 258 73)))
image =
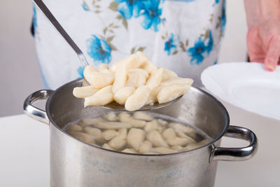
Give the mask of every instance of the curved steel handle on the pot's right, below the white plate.
POLYGON ((241 161, 252 158, 253 155, 255 155, 258 147, 258 140, 251 130, 230 125, 227 132, 225 132, 225 137, 245 139, 249 141, 250 144, 241 148, 214 148, 210 155, 210 162, 212 160, 241 161))

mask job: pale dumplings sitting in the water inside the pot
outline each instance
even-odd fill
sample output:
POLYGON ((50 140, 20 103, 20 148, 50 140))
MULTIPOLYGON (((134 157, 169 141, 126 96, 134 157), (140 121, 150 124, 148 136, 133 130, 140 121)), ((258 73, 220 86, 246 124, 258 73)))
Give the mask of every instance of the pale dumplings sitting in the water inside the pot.
POLYGON ((194 128, 167 122, 137 111, 106 113, 66 125, 66 132, 80 141, 114 151, 139 154, 168 154, 188 151, 209 142, 196 141, 194 128))

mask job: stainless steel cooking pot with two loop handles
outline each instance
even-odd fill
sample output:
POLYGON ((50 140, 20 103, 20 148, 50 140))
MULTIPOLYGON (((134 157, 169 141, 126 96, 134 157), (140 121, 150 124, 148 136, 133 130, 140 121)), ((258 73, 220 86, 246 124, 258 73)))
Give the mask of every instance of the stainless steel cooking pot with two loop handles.
POLYGON ((218 160, 246 160, 257 149, 255 134, 244 127, 229 126, 225 107, 213 96, 191 88, 179 102, 151 112, 179 118, 206 132, 209 144, 193 151, 167 155, 132 155, 83 143, 62 131, 73 120, 106 113, 98 106, 83 107, 83 99, 72 90, 82 79, 55 91, 39 90, 24 103, 28 116, 50 125, 51 186, 214 186, 218 160), (36 108, 36 99, 48 99, 45 111, 36 108), (223 148, 221 137, 246 139, 242 148, 223 148))

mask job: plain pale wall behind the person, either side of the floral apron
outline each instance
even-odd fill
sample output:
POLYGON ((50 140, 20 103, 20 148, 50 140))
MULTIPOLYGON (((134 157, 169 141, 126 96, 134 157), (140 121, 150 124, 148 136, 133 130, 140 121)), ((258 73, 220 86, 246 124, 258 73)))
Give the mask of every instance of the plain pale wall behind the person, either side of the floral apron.
MULTIPOLYGON (((227 25, 218 62, 246 60, 246 18, 243 0, 227 1, 227 25)), ((22 103, 43 89, 34 39, 30 34, 30 0, 0 3, 0 117, 22 113, 22 103)))

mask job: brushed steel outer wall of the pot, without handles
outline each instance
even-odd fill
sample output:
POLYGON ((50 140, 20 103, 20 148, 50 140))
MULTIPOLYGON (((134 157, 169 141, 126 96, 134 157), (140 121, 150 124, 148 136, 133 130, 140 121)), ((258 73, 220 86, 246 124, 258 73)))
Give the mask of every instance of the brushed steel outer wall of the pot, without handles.
POLYGON ((211 145, 164 156, 96 148, 50 126, 51 186, 214 186, 211 145))

